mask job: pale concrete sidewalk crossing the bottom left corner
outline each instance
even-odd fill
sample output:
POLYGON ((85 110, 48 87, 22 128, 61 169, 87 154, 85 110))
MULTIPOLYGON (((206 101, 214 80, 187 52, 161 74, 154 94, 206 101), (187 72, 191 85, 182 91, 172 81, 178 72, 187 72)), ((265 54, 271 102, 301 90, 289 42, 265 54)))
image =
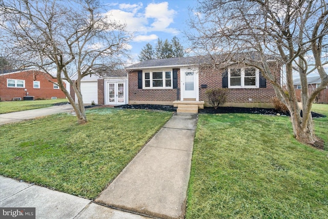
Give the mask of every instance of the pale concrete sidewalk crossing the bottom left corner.
MULTIPOLYGON (((147 219, 92 203, 91 200, 0 176, 0 207, 35 208, 38 219, 147 219)), ((0 212, 1 218, 2 212, 0 212)))

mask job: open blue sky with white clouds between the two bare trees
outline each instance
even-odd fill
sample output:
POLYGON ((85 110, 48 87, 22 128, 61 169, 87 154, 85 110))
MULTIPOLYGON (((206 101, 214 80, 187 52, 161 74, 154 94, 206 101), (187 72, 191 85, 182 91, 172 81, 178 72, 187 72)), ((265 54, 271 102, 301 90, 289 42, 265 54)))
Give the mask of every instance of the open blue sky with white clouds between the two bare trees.
POLYGON ((117 21, 127 24, 127 30, 133 32, 129 45, 133 56, 132 62, 138 62, 141 49, 150 43, 155 46, 157 39, 169 39, 177 36, 185 49, 188 42, 183 30, 187 29, 189 7, 196 5, 196 0, 137 1, 104 0, 109 6, 108 13, 117 21))

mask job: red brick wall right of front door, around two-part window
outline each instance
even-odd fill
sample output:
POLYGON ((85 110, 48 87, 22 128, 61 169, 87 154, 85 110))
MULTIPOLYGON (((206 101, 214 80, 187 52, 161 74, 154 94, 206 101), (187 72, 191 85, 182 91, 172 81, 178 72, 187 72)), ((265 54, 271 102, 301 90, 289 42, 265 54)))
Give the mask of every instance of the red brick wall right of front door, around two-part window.
MULTIPOLYGON (((280 68, 271 66, 280 82, 280 68)), ((222 88, 222 69, 202 68, 199 71, 199 100, 207 101, 206 90, 222 88), (207 88, 200 88, 202 84, 207 88)), ((227 103, 271 103, 271 98, 276 96, 273 86, 267 81, 267 88, 229 88, 227 103)))

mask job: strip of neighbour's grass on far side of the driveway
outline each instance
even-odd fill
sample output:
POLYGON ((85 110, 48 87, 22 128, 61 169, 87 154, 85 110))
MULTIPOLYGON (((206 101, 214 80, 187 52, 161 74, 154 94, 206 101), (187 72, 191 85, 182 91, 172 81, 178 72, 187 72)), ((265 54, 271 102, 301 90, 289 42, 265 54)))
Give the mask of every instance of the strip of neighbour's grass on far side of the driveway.
POLYGON ((68 102, 67 99, 46 99, 42 101, 5 101, 0 102, 0 114, 23 110, 51 107, 55 103, 68 102))

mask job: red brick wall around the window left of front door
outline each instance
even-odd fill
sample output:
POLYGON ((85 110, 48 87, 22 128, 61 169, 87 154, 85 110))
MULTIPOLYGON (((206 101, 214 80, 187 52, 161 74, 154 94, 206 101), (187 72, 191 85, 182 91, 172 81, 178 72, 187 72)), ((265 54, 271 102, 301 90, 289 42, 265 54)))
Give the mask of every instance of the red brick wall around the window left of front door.
MULTIPOLYGON (((180 70, 178 70, 180 88, 180 70)), ((176 101, 177 89, 138 89, 138 72, 129 72, 129 101, 176 101)))

